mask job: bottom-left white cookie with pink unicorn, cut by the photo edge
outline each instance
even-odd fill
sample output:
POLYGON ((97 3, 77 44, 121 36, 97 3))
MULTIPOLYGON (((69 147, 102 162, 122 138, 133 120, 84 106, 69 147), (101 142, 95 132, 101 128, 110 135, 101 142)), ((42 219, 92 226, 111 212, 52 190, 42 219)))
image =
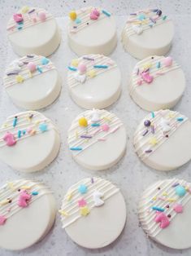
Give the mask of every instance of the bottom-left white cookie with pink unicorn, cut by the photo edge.
POLYGON ((7 182, 0 188, 0 247, 19 250, 41 241, 54 224, 54 196, 43 183, 7 182))

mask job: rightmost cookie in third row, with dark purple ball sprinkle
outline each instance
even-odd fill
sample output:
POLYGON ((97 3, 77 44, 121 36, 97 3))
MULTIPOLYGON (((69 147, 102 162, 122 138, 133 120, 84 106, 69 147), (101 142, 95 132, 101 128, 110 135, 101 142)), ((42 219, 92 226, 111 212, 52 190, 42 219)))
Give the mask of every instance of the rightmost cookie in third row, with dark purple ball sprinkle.
POLYGON ((147 166, 174 170, 191 159, 191 122, 176 111, 152 112, 138 126, 133 144, 147 166))

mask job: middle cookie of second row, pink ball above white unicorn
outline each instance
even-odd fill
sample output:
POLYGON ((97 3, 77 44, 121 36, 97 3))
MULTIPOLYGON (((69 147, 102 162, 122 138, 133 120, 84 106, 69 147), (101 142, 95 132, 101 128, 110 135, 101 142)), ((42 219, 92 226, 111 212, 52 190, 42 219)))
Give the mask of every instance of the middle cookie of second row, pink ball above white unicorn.
POLYGON ((106 108, 121 91, 121 73, 115 61, 104 55, 85 55, 68 66, 67 86, 82 108, 106 108))

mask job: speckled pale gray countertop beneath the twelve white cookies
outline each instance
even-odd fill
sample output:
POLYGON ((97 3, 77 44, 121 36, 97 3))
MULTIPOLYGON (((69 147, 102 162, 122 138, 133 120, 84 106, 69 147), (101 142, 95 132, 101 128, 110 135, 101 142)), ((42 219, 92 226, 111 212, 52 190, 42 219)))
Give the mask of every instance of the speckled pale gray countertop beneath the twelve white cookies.
MULTIPOLYGON (((97 1, 83 1, 83 0, 69 0, 69 1, 47 1, 47 0, 32 0, 28 1, 13 1, 0 0, 1 7, 1 26, 0 26, 0 78, 4 67, 11 62, 16 56, 11 50, 11 46, 7 42, 6 24, 9 17, 20 7, 29 5, 33 7, 44 7, 56 17, 62 17, 73 9, 85 7, 88 5, 104 7, 106 10, 113 12, 116 17, 119 33, 123 28, 125 16, 129 12, 137 11, 144 7, 159 7, 167 15, 171 15, 172 20, 176 25, 176 34, 170 55, 177 60, 177 62, 184 69, 186 76, 187 88, 184 92, 184 97, 180 103, 176 105, 176 110, 184 113, 191 118, 191 30, 190 30, 190 15, 191 2, 189 0, 174 0, 174 1, 139 1, 139 0, 97 0, 97 1)), ((62 146, 59 152, 59 157, 41 172, 36 174, 21 174, 10 167, 0 163, 0 184, 5 183, 8 179, 19 179, 20 177, 27 177, 28 179, 38 179, 47 183, 53 189, 57 200, 58 208, 67 188, 76 181, 91 175, 101 175, 103 178, 110 179, 121 188, 127 203, 128 219, 124 232, 122 232, 119 239, 113 244, 104 249, 84 249, 74 244, 64 230, 61 228, 59 214, 56 218, 54 228, 46 238, 29 249, 20 252, 9 252, 0 249, 1 256, 10 255, 32 255, 32 256, 59 256, 59 255, 132 255, 132 256, 162 256, 162 255, 191 255, 191 249, 174 250, 167 249, 162 245, 157 245, 150 239, 145 237, 141 227, 138 226, 137 219, 137 202, 143 189, 150 183, 158 179, 166 179, 170 177, 179 177, 191 181, 191 162, 183 166, 179 170, 171 172, 159 172, 152 170, 139 161, 137 155, 132 148, 132 135, 141 118, 145 116, 145 111, 137 107, 132 102, 128 95, 128 80, 131 74, 133 65, 137 62, 128 53, 124 54, 124 50, 118 43, 117 49, 111 55, 111 58, 116 60, 121 68, 123 76, 123 93, 116 104, 113 104, 109 111, 117 114, 127 129, 128 147, 124 158, 119 161, 119 164, 110 170, 93 172, 84 170, 78 166, 74 161, 70 152, 67 149, 67 129, 70 126, 72 119, 82 111, 76 104, 72 102, 67 91, 66 73, 67 63, 74 57, 74 54, 68 49, 66 35, 64 32, 65 24, 63 19, 59 19, 59 24, 63 30, 63 41, 54 55, 50 57, 54 64, 58 67, 59 72, 63 76, 63 90, 59 99, 50 107, 42 109, 41 112, 47 117, 50 117, 59 127, 62 138, 62 146)), ((1 81, 2 82, 2 81, 1 81)), ((8 99, 5 91, 0 89, 0 123, 8 115, 20 112, 21 109, 16 108, 8 99)))

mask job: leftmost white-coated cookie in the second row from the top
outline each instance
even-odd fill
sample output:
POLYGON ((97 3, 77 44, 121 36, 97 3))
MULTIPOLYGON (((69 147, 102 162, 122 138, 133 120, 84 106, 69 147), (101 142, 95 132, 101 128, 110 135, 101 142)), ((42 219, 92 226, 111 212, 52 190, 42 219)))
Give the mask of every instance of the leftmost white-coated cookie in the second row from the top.
POLYGON ((41 55, 26 55, 11 62, 3 83, 12 101, 30 110, 52 104, 61 90, 58 70, 41 55))

